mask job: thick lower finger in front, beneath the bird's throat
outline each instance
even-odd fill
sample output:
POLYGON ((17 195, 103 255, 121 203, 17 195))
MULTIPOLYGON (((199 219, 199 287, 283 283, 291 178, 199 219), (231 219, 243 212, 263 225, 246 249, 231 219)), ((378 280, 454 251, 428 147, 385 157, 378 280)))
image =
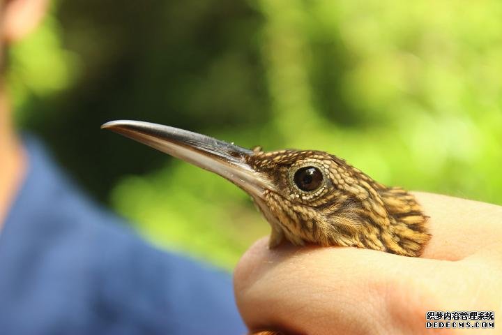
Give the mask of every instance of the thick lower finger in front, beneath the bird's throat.
POLYGON ((267 243, 254 244, 235 271, 236 301, 250 329, 423 334, 427 311, 500 312, 500 260, 450 262, 336 247, 270 250, 267 243))

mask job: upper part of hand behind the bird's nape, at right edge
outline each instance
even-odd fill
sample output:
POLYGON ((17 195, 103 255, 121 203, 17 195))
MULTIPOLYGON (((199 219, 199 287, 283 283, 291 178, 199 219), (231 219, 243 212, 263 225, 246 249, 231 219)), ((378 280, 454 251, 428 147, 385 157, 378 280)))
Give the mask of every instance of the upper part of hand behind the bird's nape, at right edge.
POLYGON ((423 258, 461 260, 502 241, 502 207, 432 193, 413 193, 429 216, 423 258))

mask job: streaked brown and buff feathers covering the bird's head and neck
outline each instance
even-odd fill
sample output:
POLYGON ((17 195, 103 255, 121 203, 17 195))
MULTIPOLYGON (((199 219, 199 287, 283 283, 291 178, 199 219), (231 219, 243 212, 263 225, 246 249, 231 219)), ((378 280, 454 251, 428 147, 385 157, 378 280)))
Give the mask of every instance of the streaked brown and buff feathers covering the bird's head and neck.
POLYGON ((427 216, 413 195, 379 184, 341 158, 323 151, 255 150, 248 163, 277 188, 257 201, 273 227, 271 247, 285 238, 299 246, 356 246, 417 257, 430 239, 427 216), (294 175, 301 168, 322 173, 319 188, 298 188, 294 175))

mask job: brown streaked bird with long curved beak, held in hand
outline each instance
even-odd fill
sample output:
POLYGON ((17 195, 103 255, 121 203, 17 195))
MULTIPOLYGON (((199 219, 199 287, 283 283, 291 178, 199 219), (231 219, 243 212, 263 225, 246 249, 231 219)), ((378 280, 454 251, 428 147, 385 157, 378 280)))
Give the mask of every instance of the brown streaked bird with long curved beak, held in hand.
POLYGON ((431 238, 415 196, 318 150, 264 151, 183 129, 119 120, 101 128, 214 172, 247 192, 271 225, 269 247, 346 246, 418 257, 431 238))

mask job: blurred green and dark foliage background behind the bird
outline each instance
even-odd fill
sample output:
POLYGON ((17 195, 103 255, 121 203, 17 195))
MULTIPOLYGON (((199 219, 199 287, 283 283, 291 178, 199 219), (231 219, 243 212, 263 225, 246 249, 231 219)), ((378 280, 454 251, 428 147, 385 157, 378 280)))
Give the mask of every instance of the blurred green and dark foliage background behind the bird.
POLYGON ((502 204, 502 1, 59 0, 16 45, 17 121, 159 246, 231 268, 268 224, 224 179, 100 131, 138 119, 502 204))

